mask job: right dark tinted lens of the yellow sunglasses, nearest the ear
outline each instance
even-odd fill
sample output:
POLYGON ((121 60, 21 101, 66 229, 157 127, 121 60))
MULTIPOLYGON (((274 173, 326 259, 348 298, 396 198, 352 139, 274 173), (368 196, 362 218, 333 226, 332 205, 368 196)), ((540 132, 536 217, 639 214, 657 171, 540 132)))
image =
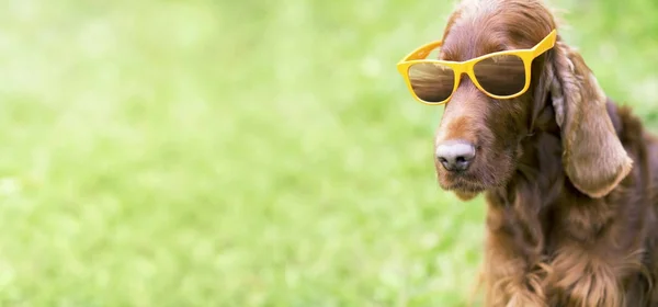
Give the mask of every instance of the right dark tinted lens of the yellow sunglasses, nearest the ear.
POLYGON ((478 61, 473 70, 479 84, 490 94, 513 95, 525 87, 525 67, 518 56, 490 57, 478 61))

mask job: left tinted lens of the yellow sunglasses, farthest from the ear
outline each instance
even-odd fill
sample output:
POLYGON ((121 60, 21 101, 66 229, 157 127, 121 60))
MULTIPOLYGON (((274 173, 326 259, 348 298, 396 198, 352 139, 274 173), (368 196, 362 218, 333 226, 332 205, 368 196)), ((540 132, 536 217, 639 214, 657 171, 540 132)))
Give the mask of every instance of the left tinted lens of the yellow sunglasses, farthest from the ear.
POLYGON ((409 67, 409 81, 418 98, 427 102, 443 102, 455 87, 452 68, 434 62, 419 62, 409 67))

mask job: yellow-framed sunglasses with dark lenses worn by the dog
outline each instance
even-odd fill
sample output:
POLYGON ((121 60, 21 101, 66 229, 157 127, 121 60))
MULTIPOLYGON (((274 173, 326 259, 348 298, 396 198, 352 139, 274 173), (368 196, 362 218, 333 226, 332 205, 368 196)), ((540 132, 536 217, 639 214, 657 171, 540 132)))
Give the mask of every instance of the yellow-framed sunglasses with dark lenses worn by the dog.
POLYGON ((457 90, 462 75, 494 99, 512 99, 530 88, 532 61, 555 46, 553 30, 531 49, 492 53, 466 61, 427 59, 443 44, 441 41, 421 46, 397 65, 415 99, 427 104, 444 104, 457 90))

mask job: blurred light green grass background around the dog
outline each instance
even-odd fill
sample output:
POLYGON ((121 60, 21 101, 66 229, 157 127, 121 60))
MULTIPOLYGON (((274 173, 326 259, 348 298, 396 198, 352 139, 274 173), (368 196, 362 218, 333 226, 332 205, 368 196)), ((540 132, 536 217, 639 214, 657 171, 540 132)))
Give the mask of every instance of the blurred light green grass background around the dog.
MULTIPOLYGON (((554 1, 658 127, 658 2, 554 1)), ((481 197, 395 64, 453 1, 0 4, 0 306, 463 306, 481 197)))

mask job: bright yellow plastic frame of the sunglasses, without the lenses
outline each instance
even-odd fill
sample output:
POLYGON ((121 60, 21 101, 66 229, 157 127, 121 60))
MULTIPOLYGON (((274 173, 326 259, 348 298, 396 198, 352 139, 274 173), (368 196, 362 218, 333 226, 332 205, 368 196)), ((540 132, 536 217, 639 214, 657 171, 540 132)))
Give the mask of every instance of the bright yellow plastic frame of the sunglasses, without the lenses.
POLYGON ((518 96, 522 95, 530 88, 532 61, 536 57, 541 56, 545 52, 553 48, 555 46, 556 41, 557 41, 557 31, 553 30, 553 31, 551 31, 551 33, 548 35, 546 35, 546 37, 544 37, 544 39, 542 39, 542 42, 540 42, 538 44, 536 44, 534 47, 532 47, 530 49, 515 49, 515 50, 498 52, 498 53, 479 56, 479 57, 476 57, 476 58, 473 58, 469 60, 465 60, 465 61, 427 59, 427 56, 432 50, 434 50, 435 48, 439 48, 443 45, 442 41, 436 41, 436 42, 432 42, 432 43, 426 44, 423 46, 420 46, 419 48, 417 48, 416 50, 413 50, 412 53, 410 53, 409 55, 404 57, 397 64, 397 69, 400 72, 400 75, 402 75, 402 78, 405 78, 405 82, 407 83, 407 88, 411 92, 411 95, 413 95, 413 98, 416 100, 418 100, 424 104, 441 105, 441 104, 447 103, 451 100, 451 98, 453 96, 453 94, 455 93, 455 91, 457 90, 457 88, 460 87, 460 83, 462 82, 462 75, 464 75, 464 73, 466 73, 468 76, 468 78, 470 78, 470 81, 473 81, 475 87, 477 87, 483 93, 487 94, 488 96, 494 98, 494 99, 513 99, 513 98, 518 98, 518 96), (519 58, 521 58, 521 60, 523 60, 523 66, 525 68, 525 84, 523 86, 523 89, 515 94, 496 95, 496 94, 488 92, 480 86, 479 81, 475 77, 475 71, 473 69, 476 64, 478 64, 479 61, 481 61, 484 59, 488 59, 488 58, 496 57, 496 56, 506 56, 506 55, 518 56, 519 58), (444 101, 440 101, 440 102, 424 101, 424 100, 420 99, 413 91, 413 88, 411 87, 411 80, 409 80, 409 68, 412 65, 422 64, 422 62, 443 65, 443 66, 450 67, 454 71, 454 73, 455 73, 455 77, 454 77, 455 82, 454 83, 455 84, 454 84, 452 92, 450 93, 450 96, 447 96, 444 101))

